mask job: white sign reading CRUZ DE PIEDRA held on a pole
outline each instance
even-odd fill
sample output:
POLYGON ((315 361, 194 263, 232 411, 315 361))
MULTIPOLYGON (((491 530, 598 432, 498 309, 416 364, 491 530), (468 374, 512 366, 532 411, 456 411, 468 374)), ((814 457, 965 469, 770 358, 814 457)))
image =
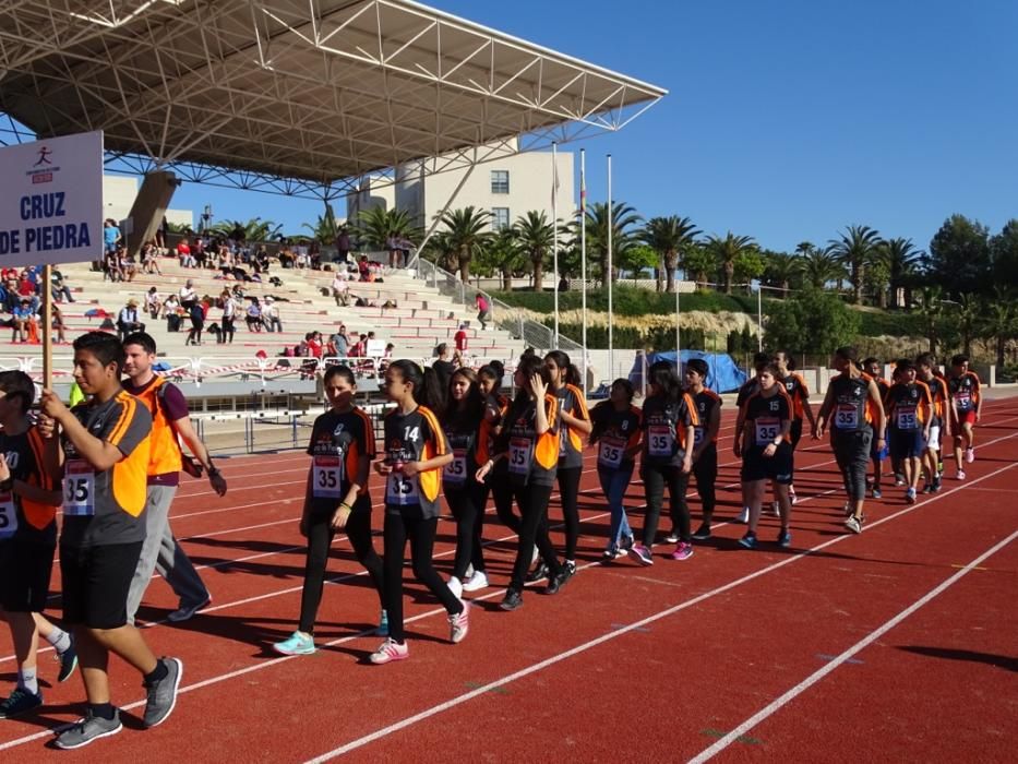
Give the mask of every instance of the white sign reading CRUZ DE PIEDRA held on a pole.
POLYGON ((0 266, 103 259, 103 133, 0 148, 0 266))

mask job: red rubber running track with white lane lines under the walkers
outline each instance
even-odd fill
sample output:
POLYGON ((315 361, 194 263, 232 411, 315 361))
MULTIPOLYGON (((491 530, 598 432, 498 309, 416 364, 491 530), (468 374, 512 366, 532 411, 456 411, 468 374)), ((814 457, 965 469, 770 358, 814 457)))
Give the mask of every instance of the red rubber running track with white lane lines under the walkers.
MULTIPOLYGON (((448 643, 445 613, 412 581, 410 658, 371 666, 366 635, 378 597, 342 536, 334 544, 316 625, 319 652, 283 658, 270 645, 295 628, 303 573, 297 530, 307 457, 224 461, 226 499, 187 480, 172 526, 215 600, 182 624, 154 580, 140 618, 157 654, 184 661, 172 717, 142 730, 137 675, 110 661, 124 730, 84 749, 89 760, 354 761, 1014 761, 1018 740, 1018 399, 987 402, 978 459, 959 482, 951 459, 939 494, 905 503, 887 488, 867 501, 859 536, 841 527, 840 478, 826 443, 800 444, 792 548, 760 524, 760 545, 736 545, 741 498, 731 410, 719 443, 715 538, 683 562, 655 547, 655 564, 599 564, 608 514, 594 454, 582 482, 580 571, 555 597, 525 593, 498 609, 515 549, 488 514, 489 575, 467 595, 470 634, 448 643)), ((642 486, 627 496, 643 527, 642 486)), ((374 494, 380 496, 378 489, 374 494)), ((691 491, 694 528, 699 501, 691 491)), ((556 494, 550 508, 561 545, 556 494)), ((666 511, 667 515, 667 511, 666 511)), ((375 511, 374 524, 381 525, 375 511)), ((662 533, 669 528, 661 521, 662 533)), ((442 521, 435 560, 452 564, 442 521)), ((375 539, 381 551, 381 539, 375 539)), ((561 547, 560 547, 561 548, 561 547)), ((407 573, 409 576, 409 573, 407 573)), ((55 575, 55 583, 59 574, 55 575)), ((59 593, 57 593, 59 594, 59 593)), ((51 613, 59 617, 59 596, 51 613)), ((45 643, 44 643, 45 645, 45 643)), ((56 685, 41 650, 40 713, 0 721, 0 757, 44 761, 52 729, 83 713, 79 677, 56 685)), ((0 679, 15 679, 0 635, 0 679)), ((7 692, 7 689, 4 689, 7 692)))

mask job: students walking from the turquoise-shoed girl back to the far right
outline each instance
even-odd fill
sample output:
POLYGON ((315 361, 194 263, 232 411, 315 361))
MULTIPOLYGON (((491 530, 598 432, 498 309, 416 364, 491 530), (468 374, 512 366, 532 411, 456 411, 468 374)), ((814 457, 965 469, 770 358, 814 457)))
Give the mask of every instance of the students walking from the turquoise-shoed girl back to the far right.
MULTIPOLYGON (((881 379, 876 359, 860 362, 853 348, 840 348, 834 356, 840 373, 831 380, 815 417, 809 387, 790 368, 788 354, 758 354, 754 361, 755 375, 739 391, 733 445, 742 458, 740 521, 748 526, 739 540, 743 547, 757 546, 768 482, 774 512, 780 517, 776 541, 780 547, 791 545, 794 451, 804 419, 814 439, 830 431, 848 497, 845 527, 857 534, 865 522, 867 491, 882 497, 885 438, 890 438, 896 482, 907 486, 905 499, 910 503, 917 499, 923 471, 927 477, 924 492, 941 489, 943 431, 949 429, 955 438, 959 479, 965 478, 962 446, 966 459, 974 459, 972 426, 979 416, 979 379, 962 356, 951 360, 947 379, 938 375, 927 354, 914 362, 901 359, 888 384, 881 379), (871 461, 874 477, 867 484, 871 461)), ((460 642, 470 623, 470 604, 464 593, 491 583, 482 541, 489 496, 500 522, 517 538, 501 609, 522 607, 528 585, 543 583, 546 594, 556 594, 576 573, 577 499, 586 443, 596 446, 597 474, 611 515, 602 561, 611 563, 627 556, 642 565, 654 564, 651 550, 666 489, 671 521, 666 540, 675 545, 668 557, 691 558, 693 542, 711 537, 721 398, 706 386, 710 371, 706 361, 692 359, 684 366, 684 380, 680 380, 672 363, 651 365, 640 408, 633 403, 633 384, 618 379, 608 399, 588 409, 579 371, 561 350, 543 358, 523 355, 513 374, 512 398, 500 392, 501 363, 476 372, 456 369, 443 385, 432 369, 397 360, 385 372, 385 395, 395 407, 385 416, 381 453, 370 419, 354 403, 354 373, 342 366, 327 369, 325 395, 332 408, 315 421, 308 446, 312 464, 300 523, 309 544, 300 622, 274 648, 285 655, 314 652, 314 621, 328 549, 339 530, 349 537, 379 595, 381 617, 375 633, 386 638, 371 654, 371 662, 409 656, 403 618, 408 541, 415 577, 445 608, 451 642, 460 642), (639 536, 624 506, 637 456, 646 501, 639 536), (382 558, 371 542, 368 476, 372 464, 384 479, 382 558), (691 477, 703 513, 695 533, 686 502, 691 477), (549 536, 548 505, 555 486, 565 535, 561 556, 549 536), (443 492, 456 522, 455 558, 447 580, 432 561, 443 492)))

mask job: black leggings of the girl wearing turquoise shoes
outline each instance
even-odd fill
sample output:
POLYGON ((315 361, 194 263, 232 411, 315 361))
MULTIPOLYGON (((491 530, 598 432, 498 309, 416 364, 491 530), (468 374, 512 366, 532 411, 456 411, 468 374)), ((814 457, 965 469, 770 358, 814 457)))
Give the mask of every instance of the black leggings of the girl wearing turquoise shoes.
MULTIPOLYGON (((382 599, 382 558, 374 551, 371 542, 371 513, 355 512, 347 518, 344 533, 350 539, 357 561, 364 566, 371 583, 382 599)), ((332 528, 332 513, 315 513, 308 517, 308 557, 304 562, 304 588, 300 595, 300 625, 307 634, 314 633, 314 620, 322 602, 322 588, 325 585, 325 566, 328 564, 328 548, 336 532, 332 528)))

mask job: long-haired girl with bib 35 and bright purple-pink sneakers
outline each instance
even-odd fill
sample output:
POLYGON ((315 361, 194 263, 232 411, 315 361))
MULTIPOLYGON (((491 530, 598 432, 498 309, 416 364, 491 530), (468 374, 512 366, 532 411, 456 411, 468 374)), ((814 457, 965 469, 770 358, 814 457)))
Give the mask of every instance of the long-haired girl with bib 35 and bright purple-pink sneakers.
POLYGON ((699 423, 693 399, 682 391, 675 370, 668 361, 650 367, 650 394, 644 401, 644 446, 640 477, 647 497, 644 542, 630 549, 630 557, 642 565, 652 565, 650 550, 658 533, 664 488, 671 505, 671 521, 679 538, 672 560, 693 557, 690 534, 690 505, 685 501, 693 469, 694 429, 699 423))

